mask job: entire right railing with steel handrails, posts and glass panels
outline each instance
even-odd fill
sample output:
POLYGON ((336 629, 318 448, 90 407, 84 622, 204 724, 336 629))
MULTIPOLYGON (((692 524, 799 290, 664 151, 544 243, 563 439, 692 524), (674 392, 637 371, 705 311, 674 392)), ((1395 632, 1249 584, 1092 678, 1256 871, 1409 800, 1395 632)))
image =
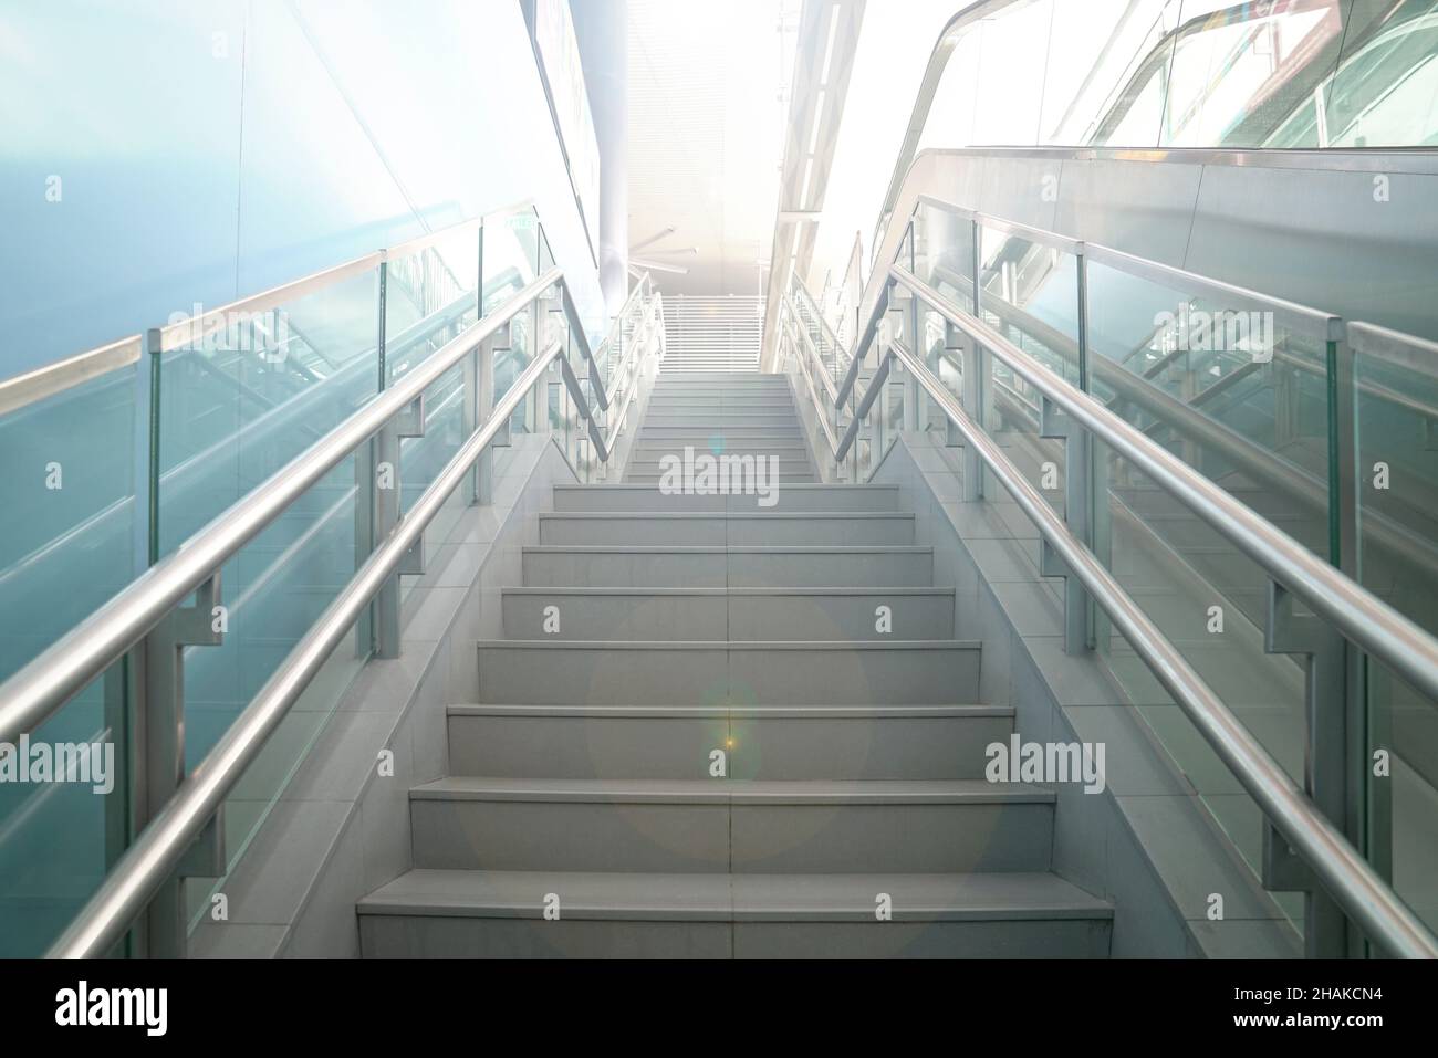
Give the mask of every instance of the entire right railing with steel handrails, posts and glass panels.
MULTIPOLYGON (((828 384, 824 359, 801 325, 804 298, 792 298, 782 315, 781 349, 802 380, 801 391, 814 401, 835 472, 843 473, 847 464, 854 480, 866 480, 883 460, 897 434, 892 423, 893 381, 903 382, 897 390, 902 428, 929 427, 932 420, 925 408, 936 408, 948 443, 963 446, 965 499, 984 497, 988 474, 1037 526, 1041 575, 1064 578, 1066 648, 1070 653, 1102 648, 1110 631, 1103 621, 1112 622, 1112 631, 1129 643, 1257 804, 1265 822, 1263 881, 1270 888, 1306 893, 1303 924, 1309 953, 1352 952, 1347 916, 1385 952, 1438 954, 1432 932, 1378 870, 1386 870, 1388 854, 1380 845, 1388 835, 1365 827, 1362 816, 1355 827, 1353 801, 1362 801, 1369 791, 1355 791, 1355 782, 1362 786, 1362 781, 1353 776, 1366 773, 1369 755, 1365 746, 1355 750, 1353 740, 1345 742, 1343 735, 1353 717, 1365 714, 1365 661, 1396 676, 1432 707, 1438 702, 1438 640, 1337 568, 1353 561, 1365 542, 1362 533, 1382 545, 1392 543, 1393 535, 1406 528, 1398 516, 1373 512, 1365 515, 1368 520, 1359 529, 1353 483, 1359 448, 1353 418, 1359 400, 1385 401, 1389 394, 1402 394, 1403 400, 1393 407, 1419 415, 1432 437, 1431 424, 1438 414, 1428 394, 1435 381, 1431 356, 1438 346, 1366 323, 1345 325, 1307 306, 932 198, 919 200, 899 260, 884 270, 883 282, 848 369, 837 384, 828 384), (922 214, 933 208, 956 221, 949 236, 966 229, 966 239, 946 243, 951 249, 958 246, 945 260, 946 267, 958 267, 945 276, 946 290, 925 282, 925 276, 942 272, 942 254, 935 249, 935 233, 942 234, 942 224, 923 227, 922 214), (998 239, 985 243, 985 231, 997 233, 998 239), (1329 453, 1324 469, 1332 470, 1319 479, 1326 486, 1323 539, 1304 546, 1191 464, 1204 456, 1205 443, 1219 447, 1215 438, 1222 441, 1224 460, 1245 472, 1261 463, 1254 450, 1264 450, 1192 411, 1194 394, 1173 397, 1162 388, 1163 372, 1172 364, 1171 351, 1159 346, 1145 352, 1152 362, 1140 359, 1129 369, 1119 362, 1133 359, 1133 351, 1106 356, 1090 348, 1096 332, 1090 321, 1096 302, 1094 267, 1173 286, 1194 298, 1194 303, 1198 298, 1217 299, 1273 313, 1283 322, 1281 336, 1270 335, 1265 346, 1247 351, 1261 355, 1264 362, 1276 362, 1278 367, 1268 369, 1274 378, 1286 380, 1281 372, 1291 371, 1323 381, 1319 394, 1326 414, 1320 433, 1329 453), (1071 315, 1057 313, 1050 296, 1050 288, 1064 282, 1073 283, 1071 315), (1032 315, 1020 318, 1025 296, 1044 300, 1050 316, 1063 315, 1071 332, 1032 315), (890 326, 890 313, 897 328, 890 326), (940 329, 930 342, 935 319, 940 329), (1007 334, 1011 328, 1017 335, 1012 341, 1007 334), (1068 335, 1068 341, 1055 341, 1055 329, 1068 335), (905 338, 890 336, 896 331, 905 338), (1041 335, 1037 342, 1035 332, 1041 335), (1020 348, 1015 342, 1035 348, 1020 348), (1316 368, 1304 359, 1310 351, 1317 354, 1316 368), (1365 380, 1363 367, 1355 368, 1353 351, 1365 354, 1363 364, 1373 362, 1389 374, 1406 372, 1408 381, 1426 380, 1429 388, 1405 385, 1405 378, 1365 380), (1035 487, 1015 464, 1012 450, 995 441, 999 395, 1025 410, 1037 408, 1035 443, 1054 438, 1061 444, 1061 503, 1055 505, 1035 487), (1146 407, 1152 423, 1132 423, 1117 414, 1130 405, 1146 407), (1153 428, 1171 427, 1168 417, 1175 408, 1195 420, 1189 423, 1191 433, 1204 427, 1196 451, 1183 450, 1188 459, 1150 436, 1153 428), (860 446, 867 447, 863 457, 860 446), (1179 502, 1267 579, 1265 648, 1296 656, 1303 673, 1306 765, 1297 776, 1235 716, 1116 576, 1107 539, 1110 489, 1117 487, 1110 477, 1114 467, 1137 474, 1152 490, 1179 502), (1378 868, 1355 848, 1355 840, 1366 840, 1378 868)), ((1132 289, 1127 295, 1132 299, 1132 289)), ((1116 296, 1114 288, 1107 288, 1103 296, 1116 296)), ((1232 362, 1195 359, 1199 368, 1217 372, 1212 385, 1222 384, 1224 390, 1237 387, 1229 375, 1252 374, 1251 369, 1240 374, 1242 365, 1232 362)), ((1309 398, 1311 402, 1311 394, 1309 398)), ((1274 420, 1284 411, 1274 398, 1274 420)), ((1229 473, 1228 467, 1225 461, 1214 473, 1229 473)), ((1278 470, 1267 479, 1255 477, 1278 483, 1290 476, 1278 470)), ((1373 801, 1380 815, 1382 796, 1373 795, 1373 801)))

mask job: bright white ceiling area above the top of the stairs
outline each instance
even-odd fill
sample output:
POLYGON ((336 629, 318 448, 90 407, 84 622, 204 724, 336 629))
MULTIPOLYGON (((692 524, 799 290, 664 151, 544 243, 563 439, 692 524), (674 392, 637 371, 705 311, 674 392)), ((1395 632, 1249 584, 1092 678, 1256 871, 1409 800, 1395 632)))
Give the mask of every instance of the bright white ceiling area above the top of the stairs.
POLYGON ((633 254, 689 269, 666 292, 764 292, 798 9, 628 0, 630 246, 674 229, 633 254))

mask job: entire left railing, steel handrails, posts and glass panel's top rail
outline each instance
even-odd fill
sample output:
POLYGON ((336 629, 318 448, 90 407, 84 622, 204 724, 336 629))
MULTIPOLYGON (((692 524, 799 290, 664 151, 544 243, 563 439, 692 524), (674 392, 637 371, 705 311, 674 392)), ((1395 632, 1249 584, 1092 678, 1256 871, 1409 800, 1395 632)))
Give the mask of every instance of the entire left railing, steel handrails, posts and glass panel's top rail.
MULTIPOLYGON (((122 755, 121 782, 105 801, 131 802, 132 815, 106 822, 104 851, 111 867, 53 953, 105 954, 127 934, 132 953, 184 952, 187 921, 180 880, 223 873, 217 857, 223 858, 220 819, 226 798, 246 769, 270 752, 272 736, 296 702, 312 694, 316 674, 334 671, 336 658, 338 671, 352 674, 367 657, 398 653, 401 575, 424 572, 426 536, 441 523, 441 510, 452 509, 456 500, 490 500, 495 448, 508 444, 512 431, 552 433, 581 480, 618 473, 636 391, 663 351, 659 296, 647 276, 641 277, 601 346, 601 365, 561 270, 546 257, 542 229, 532 230, 532 260, 544 267, 502 303, 480 305, 486 293, 483 266, 477 273, 472 266, 467 280, 457 280, 447 267, 416 270, 443 275, 446 296, 456 282, 475 288, 460 295, 472 302, 460 318, 444 316, 441 336, 447 341, 427 349, 387 344, 387 313, 381 308, 378 342, 367 362, 384 365, 387 351, 404 352, 407 359, 391 361, 383 369, 374 395, 0 684, 0 742, 16 742, 47 722, 62 720, 66 703, 104 677, 104 730, 122 755), (512 380, 503 377, 508 371, 515 374, 512 380), (434 444, 427 440, 434 414, 460 423, 462 440, 452 454, 443 438, 436 437, 434 444), (414 440, 404 444, 401 438, 414 440), (429 474, 440 459, 441 467, 429 474), (186 658, 194 653, 186 648, 224 641, 221 568, 233 565, 246 545, 272 533, 282 519, 292 519, 315 489, 332 489, 335 473, 351 467, 354 484, 338 493, 338 503, 325 502, 312 532, 328 532, 336 519, 352 520, 357 568, 283 660, 267 670, 263 687, 246 697, 243 710, 213 748, 204 748, 209 752, 203 762, 187 770, 184 660, 197 658, 186 658), (414 487, 423 490, 406 503, 404 489, 414 487), (349 643, 352 651, 345 648, 349 643), (131 932, 137 917, 141 921, 131 932)), ((456 237, 483 246, 483 223, 472 221, 377 254, 381 296, 387 256, 433 252, 456 237)), ((367 275, 372 264, 368 257, 352 262, 242 305, 256 310, 332 289, 334 282, 367 275), (342 279, 335 279, 341 272, 342 279)), ((434 309, 436 302, 420 300, 418 312, 434 309)), ((193 348, 226 326, 232 319, 226 313, 233 310, 227 306, 151 332, 148 345, 154 351, 193 348)), ((426 321, 447 310, 449 305, 441 305, 429 312, 407 334, 416 326, 431 332, 426 321)), ((256 671, 263 676, 266 670, 260 666, 256 671)), ((194 745, 190 750, 193 760, 194 745)), ((106 815, 112 814, 106 806, 106 815)))

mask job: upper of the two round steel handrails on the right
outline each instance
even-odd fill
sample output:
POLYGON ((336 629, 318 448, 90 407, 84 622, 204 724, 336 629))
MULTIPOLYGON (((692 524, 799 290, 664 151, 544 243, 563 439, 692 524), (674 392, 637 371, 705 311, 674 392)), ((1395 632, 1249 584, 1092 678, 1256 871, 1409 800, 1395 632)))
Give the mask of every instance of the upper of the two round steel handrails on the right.
POLYGON ((1438 641, 1425 630, 1276 529, 1153 438, 1045 368, 998 331, 955 309, 913 273, 896 264, 889 275, 1054 401, 1074 423, 1109 444, 1165 492, 1181 499, 1345 638, 1389 666, 1424 694, 1438 699, 1438 641))

